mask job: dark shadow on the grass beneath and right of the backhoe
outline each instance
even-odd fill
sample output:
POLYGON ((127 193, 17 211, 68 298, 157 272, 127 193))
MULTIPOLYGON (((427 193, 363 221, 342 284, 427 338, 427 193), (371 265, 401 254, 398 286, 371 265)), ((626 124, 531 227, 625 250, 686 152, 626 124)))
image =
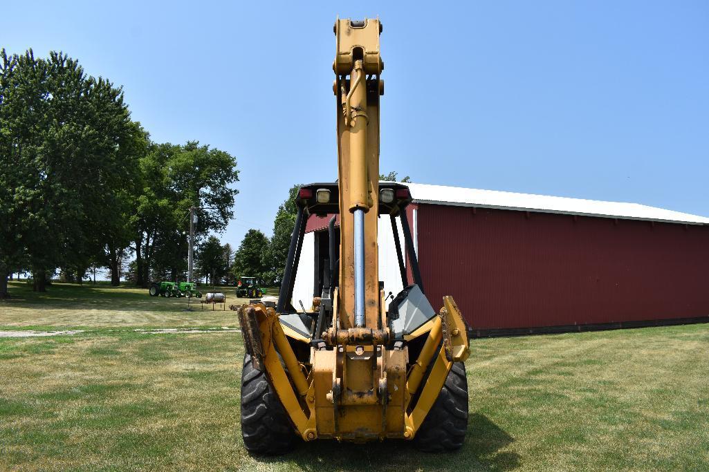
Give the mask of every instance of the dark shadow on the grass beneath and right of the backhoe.
POLYGON ((305 471, 401 471, 417 468, 510 471, 520 466, 520 456, 500 449, 512 442, 514 438, 488 417, 474 414, 469 418, 465 444, 453 453, 420 452, 411 442, 403 440, 390 439, 367 444, 321 440, 299 444, 295 451, 284 456, 253 458, 261 463, 296 463, 305 471))

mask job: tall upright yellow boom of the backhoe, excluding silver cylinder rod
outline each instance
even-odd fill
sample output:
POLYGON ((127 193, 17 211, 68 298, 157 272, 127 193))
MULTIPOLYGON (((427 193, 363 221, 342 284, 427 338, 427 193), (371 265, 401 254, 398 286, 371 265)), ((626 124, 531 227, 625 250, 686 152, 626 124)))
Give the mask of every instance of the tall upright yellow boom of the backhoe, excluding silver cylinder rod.
POLYGON ((335 23, 337 54, 333 69, 337 90, 337 176, 340 186, 340 327, 354 326, 354 222, 347 210, 364 215, 365 326, 379 325, 379 20, 357 26, 335 23), (376 74, 367 79, 365 74, 376 74))

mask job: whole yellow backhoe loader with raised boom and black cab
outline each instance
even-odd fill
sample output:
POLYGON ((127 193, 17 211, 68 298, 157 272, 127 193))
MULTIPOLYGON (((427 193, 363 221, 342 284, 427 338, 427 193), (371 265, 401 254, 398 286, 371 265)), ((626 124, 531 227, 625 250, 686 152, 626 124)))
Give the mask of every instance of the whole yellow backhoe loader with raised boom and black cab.
POLYGON ((315 439, 398 438, 425 451, 459 449, 468 422, 466 325, 452 297, 439 300, 438 312, 425 297, 408 188, 379 182, 381 23, 337 19, 334 29, 339 178, 298 191, 278 302, 233 307, 246 349, 243 441, 257 454, 284 454, 315 439), (330 218, 320 296, 296 308, 298 259, 313 215, 330 218), (378 274, 377 230, 386 219, 404 287, 391 300, 378 274))

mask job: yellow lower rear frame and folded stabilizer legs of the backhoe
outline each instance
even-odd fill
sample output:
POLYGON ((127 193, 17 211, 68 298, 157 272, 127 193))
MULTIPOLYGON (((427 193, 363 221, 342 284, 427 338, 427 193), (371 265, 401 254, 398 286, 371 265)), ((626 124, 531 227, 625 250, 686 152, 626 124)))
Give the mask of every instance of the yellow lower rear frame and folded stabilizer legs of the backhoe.
POLYGON ((460 329, 457 327, 464 327, 464 323, 454 300, 447 297, 440 315, 428 322, 425 325, 427 331, 421 333, 428 332, 428 339, 412 364, 408 379, 408 348, 388 350, 375 345, 347 345, 322 351, 311 348, 311 369, 306 379, 286 339, 286 333, 291 330, 281 327, 272 308, 261 304, 251 306, 259 321, 264 368, 269 381, 298 433, 306 441, 318 437, 354 442, 387 437, 413 439, 435 403, 453 361, 462 361, 467 356, 464 330, 454 333, 455 329, 460 329), (452 358, 447 356, 445 340, 441 343, 446 331, 450 334, 452 358), (464 342, 457 342, 457 338, 464 339, 464 342), (278 354, 288 366, 287 372, 278 354), (423 373, 431 363, 430 374, 422 383, 423 373), (296 380, 299 376, 302 378, 296 380), (382 381, 384 383, 380 384, 382 381), (303 382, 306 382, 305 386, 303 382), (333 394, 338 382, 342 388, 339 398, 333 394), (380 385, 383 385, 386 398, 381 397, 380 385), (350 391, 346 390, 347 386, 350 391), (409 405, 419 389, 415 405, 409 405))

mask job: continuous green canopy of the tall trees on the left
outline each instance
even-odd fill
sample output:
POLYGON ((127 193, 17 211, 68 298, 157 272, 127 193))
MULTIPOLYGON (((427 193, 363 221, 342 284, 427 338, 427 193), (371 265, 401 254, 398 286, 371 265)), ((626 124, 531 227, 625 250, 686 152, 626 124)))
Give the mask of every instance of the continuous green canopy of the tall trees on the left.
POLYGON ((197 141, 150 142, 123 89, 62 52, 0 50, 0 297, 13 269, 35 289, 57 268, 79 281, 89 266, 135 252, 135 281, 186 269, 186 213, 196 242, 223 231, 238 191, 236 159, 197 141))

